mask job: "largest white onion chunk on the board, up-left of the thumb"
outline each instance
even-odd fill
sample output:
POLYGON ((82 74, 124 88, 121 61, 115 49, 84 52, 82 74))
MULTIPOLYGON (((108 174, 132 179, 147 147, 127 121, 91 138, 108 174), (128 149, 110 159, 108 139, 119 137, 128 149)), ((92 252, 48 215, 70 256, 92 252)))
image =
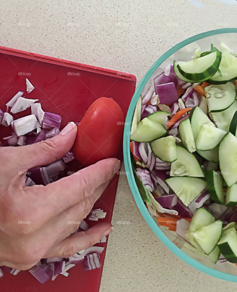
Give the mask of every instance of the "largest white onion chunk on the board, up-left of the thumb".
POLYGON ((17 134, 17 136, 25 135, 40 126, 34 114, 17 119, 11 124, 13 131, 17 134))

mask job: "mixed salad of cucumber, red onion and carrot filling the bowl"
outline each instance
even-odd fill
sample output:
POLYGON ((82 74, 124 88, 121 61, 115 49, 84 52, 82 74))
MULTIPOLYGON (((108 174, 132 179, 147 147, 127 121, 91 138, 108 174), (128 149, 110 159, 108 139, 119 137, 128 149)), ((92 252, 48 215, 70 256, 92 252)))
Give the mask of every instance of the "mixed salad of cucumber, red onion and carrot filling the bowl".
POLYGON ((131 125, 132 168, 148 211, 213 263, 237 264, 236 86, 233 51, 199 48, 148 82, 131 125))

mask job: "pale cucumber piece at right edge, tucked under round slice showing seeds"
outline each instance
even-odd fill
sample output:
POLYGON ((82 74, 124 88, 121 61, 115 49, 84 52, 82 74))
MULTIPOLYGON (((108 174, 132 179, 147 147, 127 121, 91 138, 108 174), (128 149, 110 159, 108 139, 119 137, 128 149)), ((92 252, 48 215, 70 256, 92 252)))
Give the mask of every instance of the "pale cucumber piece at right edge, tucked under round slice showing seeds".
POLYGON ((236 111, 237 111, 237 101, 235 100, 234 103, 230 107, 228 107, 228 109, 225 109, 222 112, 213 112, 210 114, 217 128, 228 132, 232 118, 236 111))

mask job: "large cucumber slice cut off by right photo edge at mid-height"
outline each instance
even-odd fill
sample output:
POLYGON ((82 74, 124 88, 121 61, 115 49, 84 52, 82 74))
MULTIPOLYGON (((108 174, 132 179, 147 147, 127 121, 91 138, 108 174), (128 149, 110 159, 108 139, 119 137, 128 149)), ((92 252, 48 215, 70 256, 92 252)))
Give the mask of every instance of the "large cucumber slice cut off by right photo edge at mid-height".
POLYGON ((221 174, 231 187, 237 181, 237 138, 227 133, 220 142, 218 153, 221 174))

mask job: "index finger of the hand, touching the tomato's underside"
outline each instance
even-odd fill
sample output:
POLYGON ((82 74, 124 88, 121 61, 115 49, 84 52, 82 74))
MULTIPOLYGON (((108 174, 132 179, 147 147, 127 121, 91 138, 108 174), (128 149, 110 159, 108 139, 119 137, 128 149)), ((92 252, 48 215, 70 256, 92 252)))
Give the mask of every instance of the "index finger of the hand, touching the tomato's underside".
MULTIPOLYGON (((33 186, 33 193, 32 187, 26 188, 27 202, 31 206, 31 223, 38 226, 63 210, 90 198, 100 185, 111 180, 119 168, 118 159, 108 158, 45 187, 33 186)), ((96 193, 97 198, 100 194, 101 192, 96 193)))

